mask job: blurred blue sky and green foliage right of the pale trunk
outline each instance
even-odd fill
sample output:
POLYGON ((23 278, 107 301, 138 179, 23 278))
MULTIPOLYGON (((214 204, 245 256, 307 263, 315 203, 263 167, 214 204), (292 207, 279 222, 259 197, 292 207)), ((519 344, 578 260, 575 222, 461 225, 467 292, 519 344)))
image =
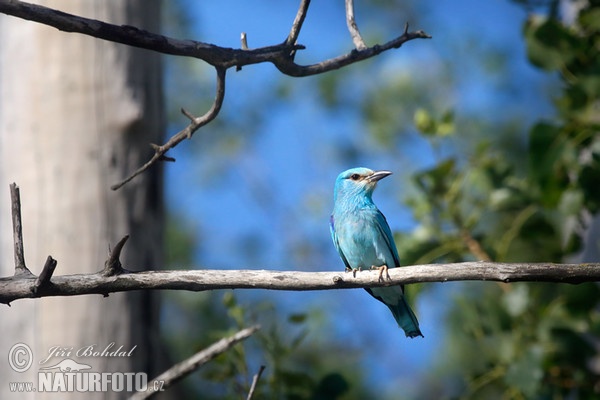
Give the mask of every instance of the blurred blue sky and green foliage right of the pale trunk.
MULTIPOLYGON (((250 48, 283 41, 293 2, 166 5, 167 34, 250 48)), ((404 264, 597 261, 600 9, 590 1, 370 1, 368 45, 431 40, 339 71, 230 72, 223 110, 171 155, 173 268, 343 268, 331 243, 333 183, 354 166, 394 172, 374 200, 404 264), (586 250, 586 256, 582 253, 586 250)), ((342 2, 313 2, 300 64, 352 49, 342 2)), ((165 57, 169 132, 204 110, 214 72, 165 57)), ((411 285, 424 339, 407 339, 363 290, 166 293, 181 357, 223 330, 263 330, 185 384, 240 398, 259 365, 264 398, 590 398, 599 395, 596 284, 411 285), (232 385, 234 380, 236 385, 232 385)))

